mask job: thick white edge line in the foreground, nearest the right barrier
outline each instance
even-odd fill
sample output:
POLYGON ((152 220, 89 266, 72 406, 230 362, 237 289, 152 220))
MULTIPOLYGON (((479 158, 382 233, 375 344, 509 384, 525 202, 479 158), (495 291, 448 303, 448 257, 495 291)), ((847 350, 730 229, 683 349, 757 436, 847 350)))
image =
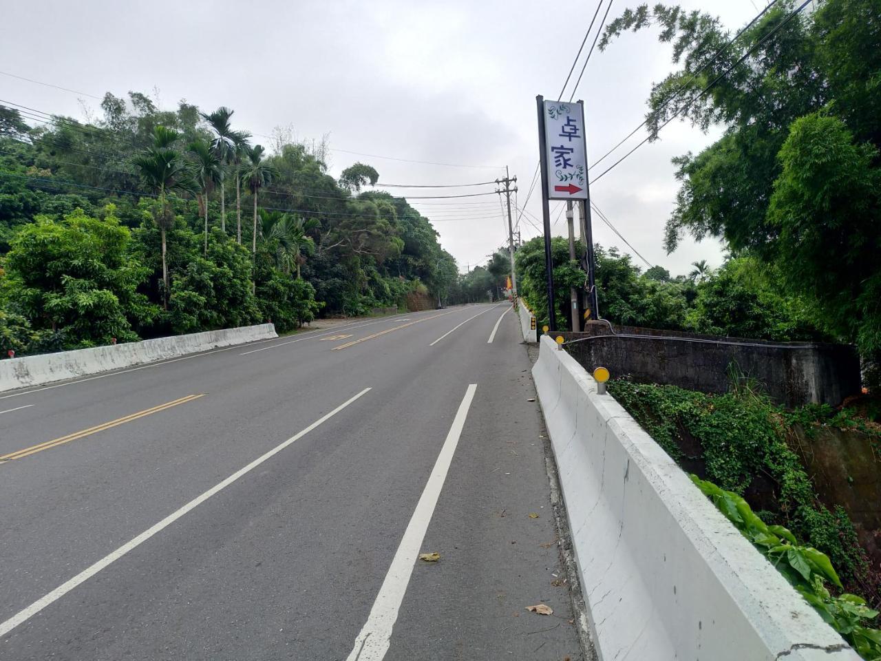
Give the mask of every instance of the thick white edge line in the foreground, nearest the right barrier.
POLYGON ((447 479, 447 472, 453 462, 455 449, 459 444, 459 437, 465 427, 465 419, 468 417, 468 410, 477 388, 477 383, 470 383, 468 390, 465 391, 462 404, 455 413, 453 425, 449 428, 447 440, 444 441, 437 461, 434 462, 432 473, 422 495, 419 496, 410 523, 403 532, 403 538, 391 561, 389 572, 382 581, 373 608, 370 609, 370 615, 358 637, 355 638, 352 652, 346 661, 381 661, 389 651, 392 628, 395 626, 403 595, 410 583, 413 565, 422 546, 422 540, 426 537, 438 498, 441 496, 441 489, 447 479))

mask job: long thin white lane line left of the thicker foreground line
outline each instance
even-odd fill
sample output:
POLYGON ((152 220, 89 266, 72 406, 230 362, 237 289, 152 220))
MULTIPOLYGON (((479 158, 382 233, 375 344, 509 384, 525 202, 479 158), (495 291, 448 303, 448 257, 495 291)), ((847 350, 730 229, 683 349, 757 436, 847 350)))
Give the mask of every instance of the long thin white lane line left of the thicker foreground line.
POLYGON ((19 611, 19 613, 13 615, 9 620, 4 621, 2 624, 0 624, 0 638, 8 634, 12 629, 18 627, 23 622, 26 622, 26 620, 32 618, 37 613, 40 613, 41 610, 43 610, 46 606, 62 598, 64 595, 70 592, 70 590, 76 588, 80 583, 84 583, 85 581, 87 581, 89 578, 100 572, 101 569, 106 568, 111 563, 119 560, 120 558, 122 558, 123 555, 129 553, 132 549, 137 548, 137 546, 143 544, 147 539, 152 538, 152 536, 159 531, 162 531, 169 525, 174 524, 174 522, 181 518, 181 516, 184 516, 192 509, 196 509, 196 507, 201 505, 204 501, 207 501, 209 498, 211 498, 212 495, 217 494, 219 491, 225 489, 226 486, 230 486, 231 484, 233 484, 233 482, 241 478, 242 475, 245 475, 247 472, 253 471, 257 466, 263 464, 264 461, 270 459, 271 457, 274 457, 283 449, 291 445, 293 442, 298 441, 300 438, 315 429, 315 427, 318 427, 323 422, 326 422, 327 420, 335 416, 338 412, 342 411, 346 406, 352 404, 356 399, 365 395, 369 390, 371 389, 365 388, 364 390, 361 390, 357 395, 355 395, 351 399, 346 400, 343 404, 337 406, 337 408, 335 408, 333 411, 322 415, 321 418, 315 420, 315 422, 303 429, 299 434, 293 435, 287 441, 278 444, 275 448, 270 449, 269 452, 266 452, 260 457, 257 457, 254 461, 252 461, 244 468, 239 469, 228 478, 224 479, 222 482, 219 482, 217 485, 212 486, 208 491, 204 492, 204 494, 196 496, 196 498, 194 498, 192 501, 189 501, 186 505, 181 507, 181 509, 177 509, 172 514, 166 516, 164 519, 159 521, 158 524, 155 524, 151 528, 148 528, 136 538, 130 539, 130 541, 117 548, 113 553, 108 553, 103 558, 101 558, 100 561, 95 562, 91 567, 81 571, 77 576, 74 576, 69 581, 62 583, 55 590, 52 590, 44 597, 37 599, 33 602, 33 604, 19 611))

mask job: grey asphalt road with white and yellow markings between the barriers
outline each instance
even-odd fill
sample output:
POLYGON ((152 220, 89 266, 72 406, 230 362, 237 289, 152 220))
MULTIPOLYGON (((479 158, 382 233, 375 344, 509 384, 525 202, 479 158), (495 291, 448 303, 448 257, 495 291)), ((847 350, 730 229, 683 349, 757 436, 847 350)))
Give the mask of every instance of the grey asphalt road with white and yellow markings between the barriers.
POLYGON ((580 659, 506 310, 0 394, 0 659, 580 659))

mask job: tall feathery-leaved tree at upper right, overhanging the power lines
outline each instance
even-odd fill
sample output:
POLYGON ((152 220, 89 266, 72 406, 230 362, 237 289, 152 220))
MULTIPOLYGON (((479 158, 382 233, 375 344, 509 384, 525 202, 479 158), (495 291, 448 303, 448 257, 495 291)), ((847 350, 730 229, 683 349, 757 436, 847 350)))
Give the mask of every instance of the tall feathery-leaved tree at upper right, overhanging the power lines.
POLYGON ((713 145, 674 160, 681 186, 667 249, 687 232, 758 256, 818 310, 825 331, 879 362, 881 5, 821 0, 795 10, 791 0, 774 4, 714 57, 730 36, 718 19, 642 5, 610 23, 601 47, 660 26, 679 68, 649 96, 651 137, 677 116, 705 130, 722 124, 713 145))

